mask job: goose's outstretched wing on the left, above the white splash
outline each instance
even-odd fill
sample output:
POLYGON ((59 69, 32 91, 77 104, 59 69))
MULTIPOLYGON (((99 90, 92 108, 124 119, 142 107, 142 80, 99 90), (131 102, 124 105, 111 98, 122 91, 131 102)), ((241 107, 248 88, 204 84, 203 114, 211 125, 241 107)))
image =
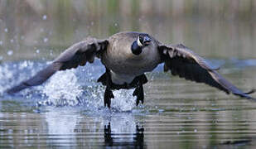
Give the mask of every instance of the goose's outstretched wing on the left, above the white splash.
POLYGON ((108 45, 109 41, 94 38, 87 38, 85 41, 80 41, 61 53, 44 70, 39 71, 31 79, 27 79, 12 89, 8 89, 7 93, 16 93, 22 89, 42 84, 58 70, 76 68, 78 65, 85 65, 87 61, 92 63, 95 55, 99 55, 101 51, 106 50, 108 45))

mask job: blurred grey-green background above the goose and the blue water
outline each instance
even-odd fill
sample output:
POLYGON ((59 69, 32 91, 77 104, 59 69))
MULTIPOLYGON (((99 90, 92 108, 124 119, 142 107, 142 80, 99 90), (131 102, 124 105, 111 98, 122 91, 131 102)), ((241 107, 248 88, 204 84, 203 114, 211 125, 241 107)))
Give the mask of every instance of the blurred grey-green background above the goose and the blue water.
POLYGON ((53 59, 86 36, 143 31, 208 58, 256 57, 255 0, 1 0, 0 60, 53 59))

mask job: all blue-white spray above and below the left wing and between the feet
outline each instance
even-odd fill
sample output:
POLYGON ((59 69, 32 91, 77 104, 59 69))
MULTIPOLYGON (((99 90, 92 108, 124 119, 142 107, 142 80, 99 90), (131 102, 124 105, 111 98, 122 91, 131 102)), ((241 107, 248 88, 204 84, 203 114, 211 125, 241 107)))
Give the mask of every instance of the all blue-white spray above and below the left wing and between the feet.
MULTIPOLYGON (((47 64, 35 61, 24 60, 0 65, 0 96, 6 89, 30 78, 47 64)), ((96 61, 93 65, 86 65, 78 69, 59 71, 54 74, 45 84, 30 89, 24 89, 16 100, 31 100, 40 106, 80 106, 88 110, 104 108, 105 87, 97 83, 100 74, 104 73, 104 68, 100 68, 100 63, 96 61)), ((111 107, 118 111, 130 111, 136 108, 134 89, 120 89, 114 91, 111 107)), ((7 95, 7 99, 13 99, 7 95)))

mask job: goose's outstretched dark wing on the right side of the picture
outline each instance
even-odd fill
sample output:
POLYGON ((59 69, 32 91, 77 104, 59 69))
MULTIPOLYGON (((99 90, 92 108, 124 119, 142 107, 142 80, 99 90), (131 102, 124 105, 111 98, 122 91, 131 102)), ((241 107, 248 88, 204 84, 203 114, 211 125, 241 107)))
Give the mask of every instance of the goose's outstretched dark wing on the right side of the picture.
MULTIPOLYGON (((164 60, 164 71, 171 70, 171 74, 178 75, 181 78, 205 83, 217 89, 232 93, 246 99, 254 99, 248 94, 254 93, 254 90, 249 93, 244 93, 236 88, 227 79, 222 77, 214 68, 207 63, 205 59, 197 55, 186 46, 179 45, 162 45, 159 46, 164 60)), ((256 99, 254 99, 256 100, 256 99)))

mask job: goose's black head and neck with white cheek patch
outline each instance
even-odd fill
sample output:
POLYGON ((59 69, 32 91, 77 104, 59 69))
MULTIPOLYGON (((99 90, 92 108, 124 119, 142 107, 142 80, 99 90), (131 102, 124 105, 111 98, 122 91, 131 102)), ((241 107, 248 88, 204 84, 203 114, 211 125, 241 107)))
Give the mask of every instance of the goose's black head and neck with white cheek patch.
POLYGON ((147 34, 139 34, 136 41, 133 41, 132 52, 134 55, 139 55, 142 53, 142 49, 148 46, 151 42, 150 36, 147 34))

